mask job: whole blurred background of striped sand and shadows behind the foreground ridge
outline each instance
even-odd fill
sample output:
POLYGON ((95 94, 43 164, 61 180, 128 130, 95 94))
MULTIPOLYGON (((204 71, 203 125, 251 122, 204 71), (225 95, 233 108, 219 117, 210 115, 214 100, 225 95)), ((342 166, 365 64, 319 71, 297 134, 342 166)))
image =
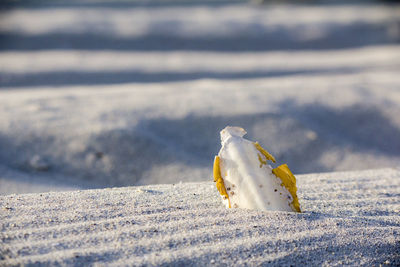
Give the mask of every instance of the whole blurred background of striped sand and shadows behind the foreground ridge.
POLYGON ((0 2, 0 194, 211 181, 241 126, 295 174, 400 163, 397 1, 0 2))

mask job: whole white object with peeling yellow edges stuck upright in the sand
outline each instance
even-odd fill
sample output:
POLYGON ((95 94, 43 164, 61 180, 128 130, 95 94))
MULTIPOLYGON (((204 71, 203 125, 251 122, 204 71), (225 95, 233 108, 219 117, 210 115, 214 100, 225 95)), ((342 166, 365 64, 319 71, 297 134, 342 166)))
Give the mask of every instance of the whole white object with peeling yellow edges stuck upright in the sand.
POLYGON ((273 169, 267 160, 275 158, 245 134, 240 127, 221 131, 214 181, 226 207, 300 212, 296 179, 287 165, 273 169))

